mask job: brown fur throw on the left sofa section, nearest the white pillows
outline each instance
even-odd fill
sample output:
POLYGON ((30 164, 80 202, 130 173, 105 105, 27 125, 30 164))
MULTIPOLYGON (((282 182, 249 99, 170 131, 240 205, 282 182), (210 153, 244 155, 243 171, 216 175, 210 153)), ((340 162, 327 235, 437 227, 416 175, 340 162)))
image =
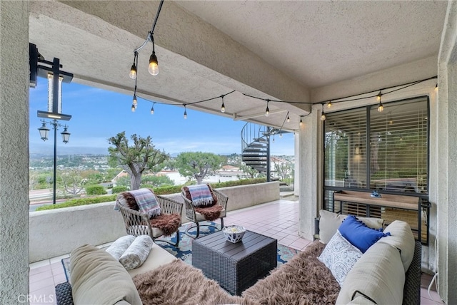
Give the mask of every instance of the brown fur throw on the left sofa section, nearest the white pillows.
POLYGON ((133 280, 144 305, 246 304, 180 259, 134 276, 133 280))

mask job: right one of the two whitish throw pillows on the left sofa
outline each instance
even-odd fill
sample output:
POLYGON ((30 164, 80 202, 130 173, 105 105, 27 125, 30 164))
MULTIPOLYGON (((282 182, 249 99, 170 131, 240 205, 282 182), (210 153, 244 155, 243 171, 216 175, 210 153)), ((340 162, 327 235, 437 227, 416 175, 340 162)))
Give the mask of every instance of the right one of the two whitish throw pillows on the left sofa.
POLYGON ((127 270, 138 268, 148 258, 153 245, 154 241, 149 235, 140 235, 122 254, 119 262, 127 270))

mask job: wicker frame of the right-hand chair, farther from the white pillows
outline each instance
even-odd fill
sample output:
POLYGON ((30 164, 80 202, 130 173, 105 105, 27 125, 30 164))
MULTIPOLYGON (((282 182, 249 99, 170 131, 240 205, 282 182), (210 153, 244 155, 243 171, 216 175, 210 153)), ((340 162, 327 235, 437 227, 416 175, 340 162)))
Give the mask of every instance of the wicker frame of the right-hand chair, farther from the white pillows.
MULTIPOLYGON (((227 214, 227 202, 229 201, 229 197, 225 195, 222 192, 219 192, 218 190, 213 190, 210 187, 211 192, 213 195, 217 198, 217 203, 216 205, 220 205, 222 207, 221 214, 219 214, 219 217, 221 219, 221 229, 224 227, 224 217, 226 217, 227 214)), ((218 227, 212 225, 212 224, 200 224, 200 222, 210 222, 211 219, 206 219, 203 214, 197 212, 195 210, 195 206, 192 202, 192 200, 189 200, 189 198, 186 196, 186 191, 184 190, 184 187, 181 189, 181 197, 184 199, 184 204, 186 208, 186 219, 189 220, 190 222, 194 222, 194 225, 191 225, 186 229, 186 234, 189 235, 189 237, 192 238, 197 238, 200 235, 200 226, 206 226, 206 227, 214 227, 219 230, 218 227), (189 234, 189 229, 194 229, 196 227, 197 232, 196 236, 189 234)))

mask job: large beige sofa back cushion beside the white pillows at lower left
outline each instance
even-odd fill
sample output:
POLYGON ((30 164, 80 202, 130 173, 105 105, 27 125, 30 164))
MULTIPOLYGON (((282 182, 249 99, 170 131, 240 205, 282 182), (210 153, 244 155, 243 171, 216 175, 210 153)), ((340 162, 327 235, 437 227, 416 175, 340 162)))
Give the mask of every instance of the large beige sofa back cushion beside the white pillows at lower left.
POLYGON ((85 244, 70 255, 74 304, 141 304, 129 273, 104 249, 85 244))

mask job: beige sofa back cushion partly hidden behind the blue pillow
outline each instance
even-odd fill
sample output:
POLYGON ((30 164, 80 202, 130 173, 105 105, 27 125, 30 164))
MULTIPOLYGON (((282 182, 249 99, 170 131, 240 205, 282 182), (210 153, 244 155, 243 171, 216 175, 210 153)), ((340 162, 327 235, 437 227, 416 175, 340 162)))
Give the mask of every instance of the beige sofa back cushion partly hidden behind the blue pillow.
MULTIPOLYGON (((336 233, 338 227, 340 227, 341 222, 343 222, 348 215, 345 214, 336 214, 333 212, 328 212, 326 210, 319 211, 319 240, 323 244, 328 244, 331 237, 336 233)), ((384 224, 384 220, 381 218, 374 217, 357 217, 364 224, 372 229, 381 229, 384 224)))

